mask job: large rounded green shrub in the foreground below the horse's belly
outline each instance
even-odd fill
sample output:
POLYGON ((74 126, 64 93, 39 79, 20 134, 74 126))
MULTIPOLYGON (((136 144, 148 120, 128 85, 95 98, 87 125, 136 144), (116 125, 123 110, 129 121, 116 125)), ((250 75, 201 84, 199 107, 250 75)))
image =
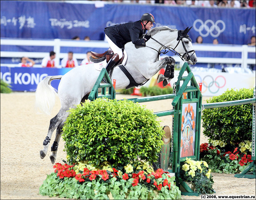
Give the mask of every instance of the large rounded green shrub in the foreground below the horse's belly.
POLYGON ((62 137, 70 163, 126 165, 158 159, 164 131, 157 116, 131 101, 96 99, 70 110, 62 137))

